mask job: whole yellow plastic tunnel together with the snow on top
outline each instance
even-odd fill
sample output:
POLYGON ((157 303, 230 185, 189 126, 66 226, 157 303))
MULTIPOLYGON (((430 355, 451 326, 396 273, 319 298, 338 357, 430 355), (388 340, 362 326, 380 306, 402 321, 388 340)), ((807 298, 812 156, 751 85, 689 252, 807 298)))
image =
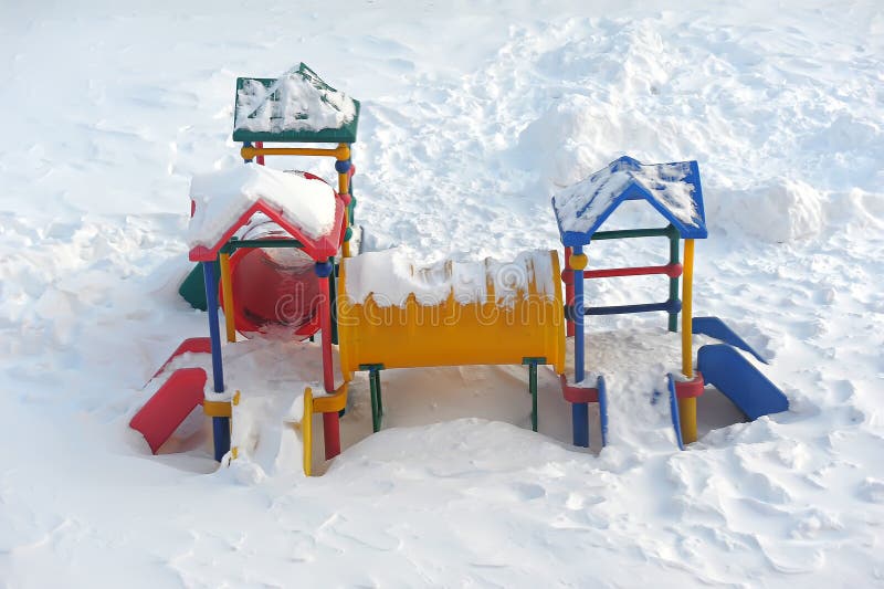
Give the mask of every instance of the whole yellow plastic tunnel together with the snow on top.
POLYGON ((338 341, 349 380, 383 368, 519 365, 565 369, 565 317, 555 251, 511 263, 444 261, 415 267, 398 250, 341 260, 338 341))

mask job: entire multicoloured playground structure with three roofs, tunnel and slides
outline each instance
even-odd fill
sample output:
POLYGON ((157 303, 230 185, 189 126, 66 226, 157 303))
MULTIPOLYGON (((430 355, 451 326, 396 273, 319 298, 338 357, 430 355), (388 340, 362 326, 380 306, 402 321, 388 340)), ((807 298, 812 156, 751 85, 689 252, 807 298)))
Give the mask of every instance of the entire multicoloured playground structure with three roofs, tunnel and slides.
MULTIPOLYGON (((323 392, 304 391, 304 472, 312 473, 312 417, 323 416, 325 456, 340 452, 339 419, 354 372, 367 371, 372 429, 383 416, 380 372, 390 368, 480 364, 525 365, 537 431, 537 367, 559 375, 572 407, 573 444, 589 446, 589 403, 598 403, 602 445, 608 442, 604 378, 588 379, 587 317, 663 312, 670 332, 681 327, 681 375, 669 375, 672 422, 680 448, 696 440, 696 398, 715 386, 749 419, 785 411, 788 400, 737 351, 764 361, 720 319, 693 316, 694 240, 705 239, 705 211, 696 161, 644 165, 621 157, 552 198, 565 250, 565 269, 555 251, 525 252, 509 264, 446 261, 433 269, 402 265, 389 253, 352 255, 356 199, 351 148, 359 102, 325 84, 306 65, 272 78, 239 78, 233 139, 242 143, 245 166, 194 178, 191 186, 190 260, 198 266, 181 286, 191 305, 208 312, 209 337, 186 340, 155 375, 165 382, 130 425, 151 451, 162 445, 198 406, 212 418, 214 457, 231 449, 233 406, 240 392, 224 382, 219 308, 224 339, 238 334, 313 340, 322 348, 323 392), (265 147, 265 144, 295 144, 265 147), (305 146, 304 144, 309 144, 305 146), (316 147, 316 145, 330 147, 316 147), (337 190, 305 172, 264 166, 265 156, 329 157, 337 190), (664 228, 600 231, 628 200, 645 201, 667 221, 664 228), (660 266, 589 269, 593 241, 666 238, 669 263, 660 266), (682 242, 684 245, 682 248, 682 242), (496 265, 495 265, 496 264, 496 265), (505 266, 505 267, 504 267, 505 266), (620 306, 587 305, 586 280, 660 274, 669 278, 663 302, 620 306), (373 276, 373 278, 372 278, 373 276), (373 282, 372 282, 373 280, 373 282), (681 298, 680 294, 681 280, 681 298), (442 288, 425 287, 442 284, 442 288), (565 294, 562 297, 562 284, 565 294), (199 285, 200 288, 196 286, 199 285), (465 286, 464 286, 465 285, 465 286), (681 315, 681 323, 680 323, 681 315), (694 368, 693 335, 723 341, 699 348, 694 368), (573 372, 566 374, 565 349, 573 347, 573 372), (334 346, 339 356, 336 375, 334 346), (183 354, 210 354, 211 380, 201 368, 167 367, 183 354), (211 390, 206 390, 211 382, 211 390)), ((650 391, 649 391, 650 392, 650 391)), ((248 391, 242 391, 248 395, 248 391)))

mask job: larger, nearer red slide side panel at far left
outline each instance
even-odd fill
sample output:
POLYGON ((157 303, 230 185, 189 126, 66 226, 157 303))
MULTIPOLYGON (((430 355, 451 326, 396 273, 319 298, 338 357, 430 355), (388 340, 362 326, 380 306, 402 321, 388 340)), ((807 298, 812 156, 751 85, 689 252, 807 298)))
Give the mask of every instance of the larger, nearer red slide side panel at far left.
POLYGON ((129 427, 138 430, 155 454, 193 409, 202 404, 206 370, 179 368, 131 418, 129 427))

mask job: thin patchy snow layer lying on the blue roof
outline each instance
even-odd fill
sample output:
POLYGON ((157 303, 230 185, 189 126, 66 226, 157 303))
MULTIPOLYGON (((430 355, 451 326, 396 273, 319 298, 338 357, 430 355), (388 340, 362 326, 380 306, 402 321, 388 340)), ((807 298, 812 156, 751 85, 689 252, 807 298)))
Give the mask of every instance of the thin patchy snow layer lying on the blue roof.
POLYGON ((562 231, 586 233, 596 227, 599 218, 610 212, 615 199, 635 183, 684 224, 702 227, 694 202, 694 186, 685 181, 690 173, 687 161, 641 165, 630 159, 617 160, 557 192, 552 207, 562 231))

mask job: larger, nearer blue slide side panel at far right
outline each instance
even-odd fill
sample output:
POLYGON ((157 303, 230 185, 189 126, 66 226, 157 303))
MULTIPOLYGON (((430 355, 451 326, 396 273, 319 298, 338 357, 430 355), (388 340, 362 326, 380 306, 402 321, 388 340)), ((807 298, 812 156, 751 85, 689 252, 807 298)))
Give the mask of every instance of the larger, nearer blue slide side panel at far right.
POLYGON ((703 346, 697 370, 750 420, 789 409, 789 400, 765 375, 726 344, 703 346))

